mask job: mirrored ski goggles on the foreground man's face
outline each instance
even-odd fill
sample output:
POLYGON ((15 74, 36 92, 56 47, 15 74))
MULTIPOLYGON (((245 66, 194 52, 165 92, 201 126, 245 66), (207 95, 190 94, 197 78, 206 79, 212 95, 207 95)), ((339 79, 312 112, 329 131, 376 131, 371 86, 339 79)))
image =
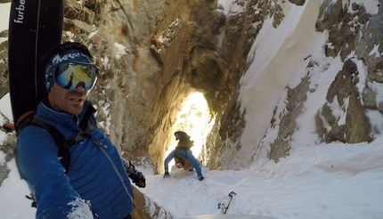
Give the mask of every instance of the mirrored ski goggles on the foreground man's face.
POLYGON ((61 62, 56 67, 55 81, 65 89, 74 90, 83 85, 86 90, 94 87, 98 77, 98 68, 93 64, 61 62))

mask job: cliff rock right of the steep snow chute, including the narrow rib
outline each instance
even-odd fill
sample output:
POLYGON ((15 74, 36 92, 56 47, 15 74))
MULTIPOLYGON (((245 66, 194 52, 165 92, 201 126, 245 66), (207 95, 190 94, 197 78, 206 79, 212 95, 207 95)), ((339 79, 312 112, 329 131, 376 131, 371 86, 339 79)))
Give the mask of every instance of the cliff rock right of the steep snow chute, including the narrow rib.
MULTIPOLYGON (((363 4, 354 1, 322 1, 315 29, 328 32, 323 53, 326 57, 339 55, 343 62, 343 68, 338 71, 315 117, 316 133, 322 142, 369 142, 375 134, 381 133, 381 126, 367 116, 371 111, 381 112, 381 4, 379 1, 373 8, 376 12, 371 14, 363 4), (346 115, 346 120, 342 115, 346 115)), ((296 89, 289 90, 289 113, 281 118, 282 128, 271 145, 269 158, 275 161, 289 155, 289 139, 297 128, 294 119, 303 112, 297 105, 306 101, 307 93, 314 92, 309 89, 308 81, 313 77, 311 72, 315 65, 315 61, 310 61, 306 67, 307 77, 296 89)), ((324 67, 321 72, 329 68, 324 67)), ((277 116, 274 115, 272 121, 277 116)))

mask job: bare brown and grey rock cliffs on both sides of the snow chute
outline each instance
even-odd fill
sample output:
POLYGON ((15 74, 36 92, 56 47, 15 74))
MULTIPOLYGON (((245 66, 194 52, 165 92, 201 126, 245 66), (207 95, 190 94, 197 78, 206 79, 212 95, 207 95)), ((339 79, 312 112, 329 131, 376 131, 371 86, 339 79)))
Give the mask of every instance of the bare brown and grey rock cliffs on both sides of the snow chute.
MULTIPOLYGON (((89 97, 98 109, 100 126, 124 157, 162 173, 176 113, 190 93, 200 92, 215 124, 202 150, 206 158, 202 162, 210 169, 229 168, 228 162, 242 148, 240 138, 246 127, 246 109, 240 110, 238 97, 240 77, 249 68, 249 50, 266 18, 273 18, 274 28, 280 25, 286 4, 304 5, 306 1, 236 0, 232 5, 242 10, 224 13, 214 0, 93 0, 82 4, 69 0, 63 40, 82 42, 94 53, 102 78, 89 97)), ((340 54, 344 61, 327 102, 313 118, 323 142, 371 141, 371 130, 379 132, 366 112, 383 109, 378 88, 383 83, 381 4, 380 0, 379 12, 371 14, 354 1, 322 1, 315 28, 329 33, 323 53, 327 57, 340 54), (371 55, 371 51, 376 53, 371 55), (358 88, 355 60, 362 60, 368 68, 363 91, 358 88), (337 101, 345 106, 345 100, 347 108, 341 110, 349 119, 340 123, 330 105, 337 101)), ((313 66, 315 61, 307 65, 307 72, 313 66)), ((4 94, 6 42, 0 45, 0 68, 0 94, 4 94)), ((269 158, 275 161, 289 155, 295 120, 306 93, 313 92, 309 81, 307 74, 301 85, 289 89, 287 113, 270 118, 270 126, 277 122, 281 126, 270 145, 269 158)), ((274 112, 278 110, 275 107, 274 112)))

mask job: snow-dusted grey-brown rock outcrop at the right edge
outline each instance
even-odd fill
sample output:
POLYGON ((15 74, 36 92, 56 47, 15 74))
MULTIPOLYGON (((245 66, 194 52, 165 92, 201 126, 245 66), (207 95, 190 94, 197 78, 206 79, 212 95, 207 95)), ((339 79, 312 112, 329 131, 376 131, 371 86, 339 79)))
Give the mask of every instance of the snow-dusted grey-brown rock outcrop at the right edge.
MULTIPOLYGON (((369 14, 363 5, 348 3, 342 5, 340 1, 330 4, 324 1, 321 13, 316 24, 318 31, 329 30, 329 40, 325 48, 327 56, 335 57, 340 54, 344 61, 343 69, 338 72, 337 77, 330 86, 327 101, 318 112, 317 132, 324 142, 369 142, 373 139, 371 135, 371 121, 367 117, 367 110, 379 110, 383 104, 377 97, 379 86, 382 85, 383 61, 381 55, 371 53, 374 48, 376 53, 383 51, 383 7, 378 8, 377 14, 369 14), (353 61, 363 61, 368 69, 366 80, 362 81, 363 91, 358 88, 359 71, 353 61), (337 100, 334 100, 337 98, 337 100), (345 100, 348 101, 345 103, 345 100), (346 112, 346 124, 338 125, 338 120, 333 116, 329 104, 338 101, 340 106, 348 106, 342 109, 346 112), (319 118, 320 117, 320 118, 319 118), (330 126, 331 128, 329 128, 330 126)), ((359 67, 361 68, 361 67, 359 67)))

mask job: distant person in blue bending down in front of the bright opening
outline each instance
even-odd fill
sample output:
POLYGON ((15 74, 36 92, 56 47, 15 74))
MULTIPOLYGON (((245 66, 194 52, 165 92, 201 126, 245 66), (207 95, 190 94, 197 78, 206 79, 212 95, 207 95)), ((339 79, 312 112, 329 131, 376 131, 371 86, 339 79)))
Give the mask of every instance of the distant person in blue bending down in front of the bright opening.
POLYGON ((200 171, 200 164, 196 158, 192 155, 190 148, 193 146, 194 141, 191 141, 191 137, 183 131, 175 132, 175 139, 178 140, 178 144, 175 150, 170 151, 167 158, 164 161, 165 177, 170 177, 168 165, 172 158, 175 158, 175 166, 177 168, 183 168, 184 170, 192 171, 193 167, 197 171, 197 176, 200 181, 204 180, 204 177, 200 171))

